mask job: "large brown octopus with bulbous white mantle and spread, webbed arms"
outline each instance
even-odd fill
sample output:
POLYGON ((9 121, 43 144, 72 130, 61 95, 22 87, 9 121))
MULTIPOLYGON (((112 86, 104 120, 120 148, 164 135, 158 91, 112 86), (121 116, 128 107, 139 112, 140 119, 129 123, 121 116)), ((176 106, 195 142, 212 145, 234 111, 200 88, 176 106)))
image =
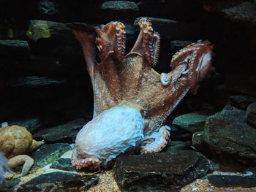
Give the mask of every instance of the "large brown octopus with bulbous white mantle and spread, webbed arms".
POLYGON ((165 120, 186 93, 197 93, 198 82, 214 71, 213 45, 200 40, 179 50, 170 61, 172 70, 159 74, 153 69, 159 34, 147 18, 141 18, 138 26, 138 39, 127 55, 121 22, 94 30, 72 28, 94 90, 93 119, 78 132, 72 151, 77 169, 108 168, 124 153, 163 150, 170 139, 165 120))

